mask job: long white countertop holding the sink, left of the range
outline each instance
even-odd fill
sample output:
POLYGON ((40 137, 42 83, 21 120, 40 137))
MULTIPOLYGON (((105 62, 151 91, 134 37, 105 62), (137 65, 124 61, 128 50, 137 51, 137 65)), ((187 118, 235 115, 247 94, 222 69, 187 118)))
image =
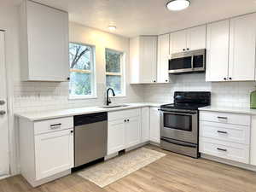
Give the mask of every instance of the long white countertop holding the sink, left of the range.
POLYGON ((160 105, 163 105, 166 103, 138 102, 138 103, 124 103, 124 104, 129 106, 121 107, 121 108, 101 108, 101 107, 67 108, 67 109, 48 110, 48 111, 40 111, 40 112, 15 113, 15 116, 20 118, 26 118, 31 121, 36 121, 36 120, 44 120, 44 119, 69 117, 73 115, 86 114, 86 113, 110 112, 110 111, 119 111, 119 110, 131 109, 131 108, 143 108, 143 107, 160 107, 160 105))

